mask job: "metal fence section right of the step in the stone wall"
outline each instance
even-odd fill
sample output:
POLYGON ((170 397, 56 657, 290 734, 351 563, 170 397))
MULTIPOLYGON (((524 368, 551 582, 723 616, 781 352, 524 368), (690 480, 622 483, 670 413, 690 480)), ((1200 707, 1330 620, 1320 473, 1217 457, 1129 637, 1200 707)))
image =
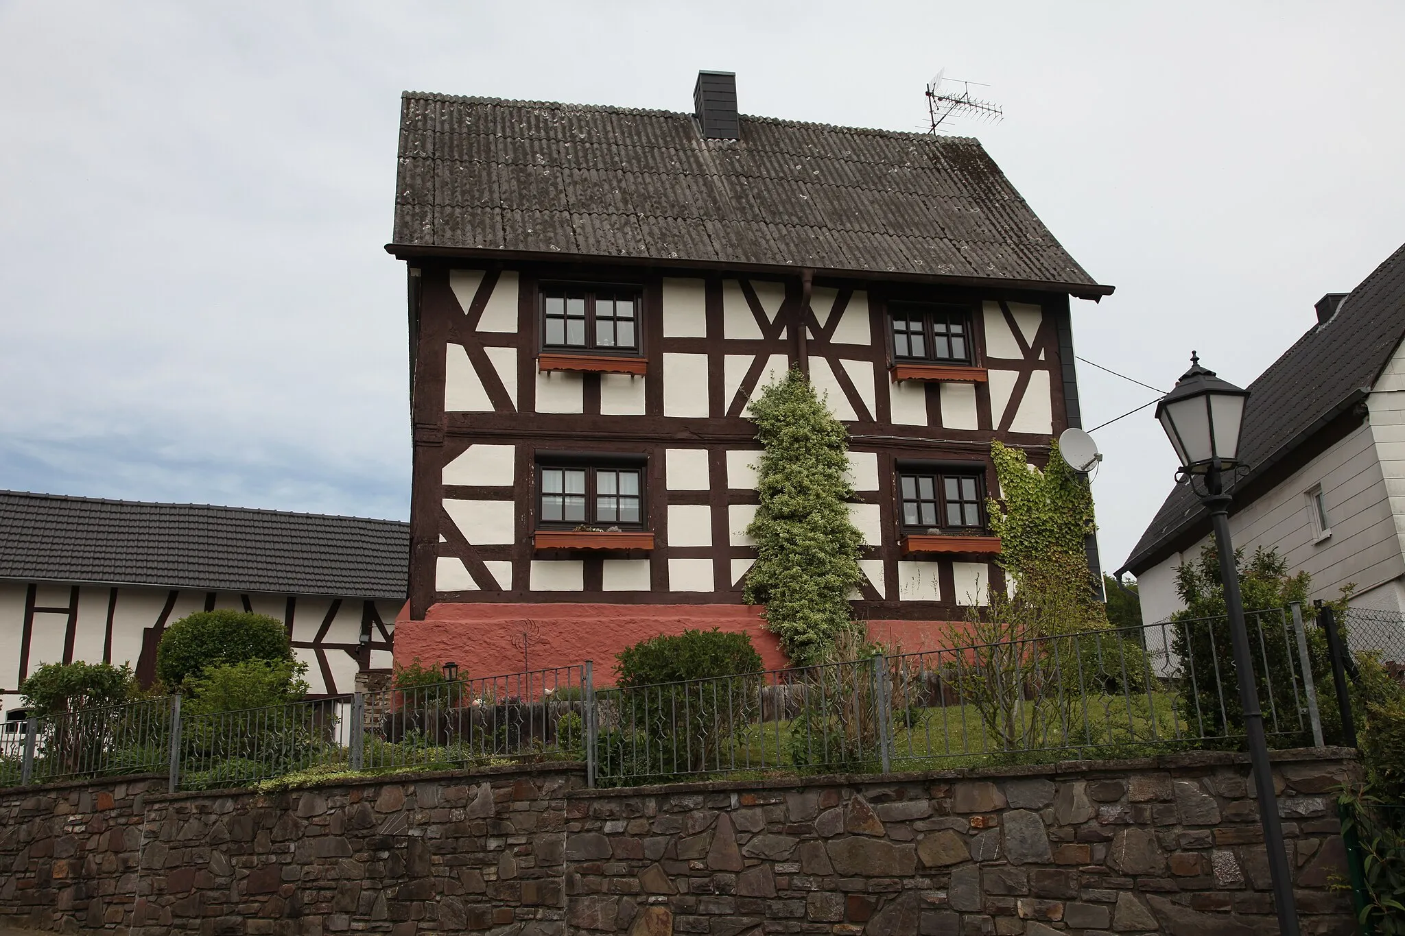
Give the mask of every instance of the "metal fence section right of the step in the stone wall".
MULTIPOLYGON (((1321 744, 1301 619, 1248 615, 1264 730, 1321 744)), ((1225 617, 596 693, 606 786, 700 775, 901 770, 1236 747, 1225 617)))

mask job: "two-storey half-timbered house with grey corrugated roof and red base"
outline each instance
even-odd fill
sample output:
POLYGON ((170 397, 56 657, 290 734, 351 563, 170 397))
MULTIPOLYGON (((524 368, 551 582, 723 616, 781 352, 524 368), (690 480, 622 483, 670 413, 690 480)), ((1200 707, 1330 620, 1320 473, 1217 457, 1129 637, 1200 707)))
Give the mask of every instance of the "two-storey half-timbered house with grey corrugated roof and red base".
POLYGON ((725 73, 694 104, 405 94, 398 658, 606 668, 718 626, 780 662, 742 602, 746 414, 791 366, 850 431, 856 615, 915 647, 992 575, 992 439, 1041 464, 1079 425, 1069 296, 1111 288, 976 140, 739 115, 725 73))

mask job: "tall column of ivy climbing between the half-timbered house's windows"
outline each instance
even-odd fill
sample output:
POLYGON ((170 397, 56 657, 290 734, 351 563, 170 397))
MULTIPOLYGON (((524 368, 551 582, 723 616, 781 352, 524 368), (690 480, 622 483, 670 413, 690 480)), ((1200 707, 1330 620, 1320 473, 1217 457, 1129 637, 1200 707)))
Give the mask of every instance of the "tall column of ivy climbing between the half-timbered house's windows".
POLYGON ((763 446, 760 505, 746 528, 756 564, 747 603, 764 605, 767 627, 795 664, 822 658, 851 624, 849 595, 861 581, 863 535, 849 519, 847 432, 809 379, 791 370, 752 400, 763 446))

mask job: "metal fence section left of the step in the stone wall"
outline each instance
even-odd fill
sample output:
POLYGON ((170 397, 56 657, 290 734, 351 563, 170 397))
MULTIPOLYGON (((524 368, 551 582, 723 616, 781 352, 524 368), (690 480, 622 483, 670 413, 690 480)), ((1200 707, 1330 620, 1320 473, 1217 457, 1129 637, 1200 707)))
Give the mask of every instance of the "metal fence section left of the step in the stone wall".
POLYGON ((584 759, 590 664, 239 711, 143 699, 6 723, 0 786, 164 773, 171 790, 313 769, 391 772, 584 759))

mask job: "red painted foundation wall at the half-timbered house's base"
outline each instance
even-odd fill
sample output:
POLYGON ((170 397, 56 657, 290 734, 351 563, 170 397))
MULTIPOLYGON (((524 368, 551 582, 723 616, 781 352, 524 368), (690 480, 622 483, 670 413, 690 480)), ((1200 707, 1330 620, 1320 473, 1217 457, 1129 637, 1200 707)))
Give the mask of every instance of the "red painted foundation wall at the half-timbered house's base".
MULTIPOLYGON (((541 636, 528 647, 527 668, 575 667, 594 661, 596 685, 614 681, 615 654, 625 647, 686 629, 746 631, 767 669, 790 665, 776 636, 753 605, 586 605, 586 603, 440 603, 424 620, 410 620, 409 606, 395 622, 395 662, 457 662, 461 676, 496 676, 523 671, 521 647, 513 646, 527 622, 541 636)), ((906 653, 936 650, 944 624, 919 620, 871 620, 870 640, 898 644, 906 653)))

